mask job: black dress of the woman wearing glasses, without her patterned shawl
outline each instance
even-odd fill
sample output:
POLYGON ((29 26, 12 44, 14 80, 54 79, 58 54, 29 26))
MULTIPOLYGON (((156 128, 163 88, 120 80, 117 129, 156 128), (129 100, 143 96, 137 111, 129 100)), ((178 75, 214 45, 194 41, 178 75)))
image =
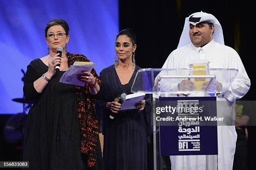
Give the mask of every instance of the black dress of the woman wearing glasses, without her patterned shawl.
MULTIPOLYGON (((31 170, 102 169, 100 163, 88 168, 87 155, 80 152, 81 131, 75 87, 59 82, 64 71, 57 71, 41 94, 33 87, 33 81, 47 71, 48 66, 35 59, 26 72, 24 94, 34 103, 27 118, 23 160, 29 161, 31 170)), ((99 162, 100 157, 98 142, 99 162)))

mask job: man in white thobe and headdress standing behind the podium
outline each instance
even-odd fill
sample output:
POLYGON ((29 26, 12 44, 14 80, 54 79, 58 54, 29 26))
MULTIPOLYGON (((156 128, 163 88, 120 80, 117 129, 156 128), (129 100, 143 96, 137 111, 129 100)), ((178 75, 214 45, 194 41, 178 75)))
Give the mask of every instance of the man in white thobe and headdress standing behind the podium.
MULTIPOLYGON (((238 53, 224 45, 224 38, 219 21, 211 14, 198 12, 185 19, 184 29, 178 48, 169 55, 163 69, 185 69, 192 60, 207 60, 209 68, 238 69, 239 73, 228 87, 220 86, 222 93, 217 101, 223 101, 217 106, 219 111, 231 115, 235 119, 235 101, 243 97, 250 88, 250 79, 246 74, 238 53), (214 32, 214 33, 213 33, 214 32), (218 108, 219 107, 219 108, 218 108)), ((183 80, 176 85, 161 85, 171 91, 189 90, 194 86, 192 81, 183 80)), ((232 170, 236 148, 235 126, 218 126, 218 170, 232 170)), ((210 146, 209 146, 210 147, 210 146)), ((172 170, 205 170, 206 156, 170 156, 172 170)))

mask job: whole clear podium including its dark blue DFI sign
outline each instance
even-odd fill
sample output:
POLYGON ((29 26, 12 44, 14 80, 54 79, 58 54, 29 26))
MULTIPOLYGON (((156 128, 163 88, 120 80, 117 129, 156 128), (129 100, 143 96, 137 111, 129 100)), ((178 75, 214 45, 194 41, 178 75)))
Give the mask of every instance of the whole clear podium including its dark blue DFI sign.
POLYGON ((237 74, 237 69, 141 69, 137 72, 131 91, 153 97, 154 170, 166 169, 166 155, 199 155, 171 159, 179 159, 181 167, 193 166, 187 160, 192 158, 193 163, 203 164, 205 170, 218 169, 217 122, 226 124, 219 121, 228 115, 218 112, 217 117, 216 109, 220 107, 216 105, 216 96, 228 89, 237 74), (183 80, 193 81, 196 86, 179 89, 183 80))

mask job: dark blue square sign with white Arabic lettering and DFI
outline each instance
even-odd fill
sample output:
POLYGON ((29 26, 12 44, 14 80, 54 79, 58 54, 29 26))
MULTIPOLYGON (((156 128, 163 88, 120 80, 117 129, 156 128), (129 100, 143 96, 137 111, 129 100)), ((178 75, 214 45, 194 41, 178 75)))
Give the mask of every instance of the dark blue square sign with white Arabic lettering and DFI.
POLYGON ((156 112, 161 156, 218 155, 216 97, 160 97, 156 112))

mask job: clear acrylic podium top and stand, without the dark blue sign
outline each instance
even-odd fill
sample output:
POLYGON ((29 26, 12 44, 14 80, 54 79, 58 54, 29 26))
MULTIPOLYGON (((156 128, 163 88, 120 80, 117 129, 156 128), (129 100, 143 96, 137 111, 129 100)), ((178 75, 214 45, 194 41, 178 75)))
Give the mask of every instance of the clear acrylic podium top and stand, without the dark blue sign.
MULTIPOLYGON (((154 170, 163 170, 163 157, 160 151, 159 122, 156 121, 156 107, 159 97, 217 96, 228 89, 238 74, 237 69, 140 69, 133 81, 133 93, 153 95, 152 118, 154 138, 154 170), (193 81, 195 87, 179 90, 182 80, 193 81), (204 84, 202 85, 202 82, 204 84)), ((205 169, 218 170, 218 155, 205 155, 205 169)))

